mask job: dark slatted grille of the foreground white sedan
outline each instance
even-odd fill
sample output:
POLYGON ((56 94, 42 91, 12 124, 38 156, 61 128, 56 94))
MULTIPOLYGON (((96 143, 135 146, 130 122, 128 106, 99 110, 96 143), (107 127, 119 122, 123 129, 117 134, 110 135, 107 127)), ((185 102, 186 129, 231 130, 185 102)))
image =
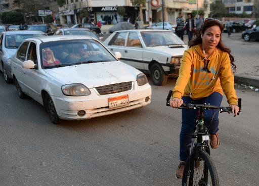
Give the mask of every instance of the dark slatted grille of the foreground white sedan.
POLYGON ((111 95, 111 94, 131 90, 131 89, 132 89, 131 81, 96 87, 96 90, 98 91, 99 95, 111 95))

